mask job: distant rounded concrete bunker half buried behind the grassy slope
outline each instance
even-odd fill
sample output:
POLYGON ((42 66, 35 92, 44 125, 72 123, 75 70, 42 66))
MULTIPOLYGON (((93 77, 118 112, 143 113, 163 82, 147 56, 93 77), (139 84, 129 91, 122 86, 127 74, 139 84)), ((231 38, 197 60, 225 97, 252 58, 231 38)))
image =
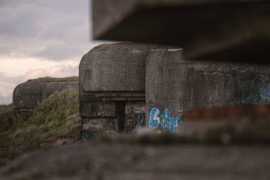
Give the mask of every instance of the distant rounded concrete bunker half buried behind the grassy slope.
POLYGON ((38 78, 21 83, 13 90, 14 115, 28 114, 53 92, 70 88, 79 88, 77 78, 38 78))

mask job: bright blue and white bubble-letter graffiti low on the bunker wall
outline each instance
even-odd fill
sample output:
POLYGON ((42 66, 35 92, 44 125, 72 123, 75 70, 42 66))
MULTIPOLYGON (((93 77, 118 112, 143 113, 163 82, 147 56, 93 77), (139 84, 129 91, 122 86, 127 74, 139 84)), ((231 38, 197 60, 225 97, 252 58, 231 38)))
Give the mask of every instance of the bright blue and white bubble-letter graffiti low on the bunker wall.
POLYGON ((159 124, 163 128, 164 132, 169 131, 171 133, 175 133, 183 125, 182 115, 180 115, 180 117, 173 117, 171 119, 170 112, 167 108, 164 110, 163 115, 161 115, 158 108, 153 107, 150 112, 149 127, 151 127, 151 129, 156 129, 159 124))

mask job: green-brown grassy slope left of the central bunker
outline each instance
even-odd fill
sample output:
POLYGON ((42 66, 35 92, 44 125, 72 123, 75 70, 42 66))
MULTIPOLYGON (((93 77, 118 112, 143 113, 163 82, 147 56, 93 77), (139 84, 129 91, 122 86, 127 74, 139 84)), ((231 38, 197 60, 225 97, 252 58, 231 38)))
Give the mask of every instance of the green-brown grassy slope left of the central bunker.
MULTIPOLYGON (((0 166, 23 152, 39 149, 45 140, 80 132, 78 96, 78 90, 55 92, 33 110, 28 120, 16 120, 11 127, 0 129, 0 166)), ((9 106, 0 112, 12 111, 9 106)))

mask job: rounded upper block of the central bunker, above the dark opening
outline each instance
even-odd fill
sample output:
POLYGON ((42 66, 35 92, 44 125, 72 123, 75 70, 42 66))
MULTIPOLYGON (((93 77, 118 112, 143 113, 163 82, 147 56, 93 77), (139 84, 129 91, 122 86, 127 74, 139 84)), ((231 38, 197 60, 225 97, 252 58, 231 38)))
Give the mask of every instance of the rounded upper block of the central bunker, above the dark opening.
POLYGON ((114 43, 93 48, 80 62, 80 99, 87 92, 145 92, 146 58, 155 47, 114 43))

